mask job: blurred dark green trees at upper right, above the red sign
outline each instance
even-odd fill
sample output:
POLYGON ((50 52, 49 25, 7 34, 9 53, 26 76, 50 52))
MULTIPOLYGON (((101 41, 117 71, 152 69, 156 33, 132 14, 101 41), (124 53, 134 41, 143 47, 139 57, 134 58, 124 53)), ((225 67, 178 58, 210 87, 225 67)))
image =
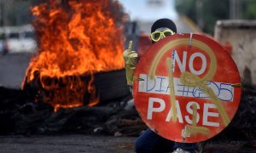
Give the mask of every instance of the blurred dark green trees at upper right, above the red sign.
MULTIPOLYGON (((179 14, 188 16, 197 24, 202 20, 201 30, 210 34, 213 34, 217 20, 230 19, 230 0, 175 0, 175 7, 179 14), (198 2, 202 3, 201 7, 196 7, 198 2)), ((240 7, 241 19, 256 19, 255 0, 241 0, 237 7, 240 7)))

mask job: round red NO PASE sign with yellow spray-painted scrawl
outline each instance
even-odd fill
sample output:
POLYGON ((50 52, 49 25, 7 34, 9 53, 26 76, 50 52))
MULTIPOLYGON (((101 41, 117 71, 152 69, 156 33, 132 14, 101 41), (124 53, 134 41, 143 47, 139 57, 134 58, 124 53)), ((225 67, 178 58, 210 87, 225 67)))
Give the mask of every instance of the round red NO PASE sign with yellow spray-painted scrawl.
POLYGON ((217 135, 240 103, 235 62, 218 42, 199 34, 176 34, 154 43, 134 76, 134 100, 143 121, 177 142, 217 135))

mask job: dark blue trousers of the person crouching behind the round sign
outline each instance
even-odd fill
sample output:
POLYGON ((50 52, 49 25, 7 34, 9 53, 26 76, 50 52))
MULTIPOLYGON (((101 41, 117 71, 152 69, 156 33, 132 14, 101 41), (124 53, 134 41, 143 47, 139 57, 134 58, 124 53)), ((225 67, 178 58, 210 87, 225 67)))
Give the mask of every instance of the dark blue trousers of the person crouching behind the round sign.
POLYGON ((187 150, 191 153, 195 152, 195 143, 177 143, 171 141, 169 139, 165 139, 160 137, 160 135, 154 133, 149 128, 137 138, 135 144, 135 150, 137 153, 142 152, 170 152, 172 150, 176 150, 177 148, 181 148, 183 150, 187 150))

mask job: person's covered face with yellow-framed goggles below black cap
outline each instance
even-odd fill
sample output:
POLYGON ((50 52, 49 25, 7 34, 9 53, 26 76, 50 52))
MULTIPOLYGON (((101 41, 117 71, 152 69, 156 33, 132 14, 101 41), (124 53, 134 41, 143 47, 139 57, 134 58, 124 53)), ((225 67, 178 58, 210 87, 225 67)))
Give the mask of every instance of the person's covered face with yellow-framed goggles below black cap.
POLYGON ((168 36, 174 35, 175 32, 173 32, 171 29, 162 27, 156 29, 154 32, 151 33, 150 38, 153 42, 158 42, 160 39, 168 36))

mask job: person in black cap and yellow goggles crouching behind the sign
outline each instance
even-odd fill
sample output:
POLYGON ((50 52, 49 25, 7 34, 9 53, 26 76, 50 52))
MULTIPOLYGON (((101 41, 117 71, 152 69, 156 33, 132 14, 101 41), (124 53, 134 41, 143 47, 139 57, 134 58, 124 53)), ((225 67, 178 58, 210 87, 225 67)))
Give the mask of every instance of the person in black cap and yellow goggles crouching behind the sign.
MULTIPOLYGON (((170 37, 175 33, 177 33, 177 27, 172 20, 160 19, 156 20, 151 26, 150 38, 152 43, 154 43, 164 37, 170 37)), ((136 51, 131 51, 131 47, 126 49, 123 55, 125 59, 127 85, 132 91, 133 74, 139 57, 136 51)), ((195 143, 174 142, 161 137, 149 128, 137 138, 135 144, 135 150, 137 153, 160 153, 168 151, 173 151, 173 153, 194 153, 196 152, 196 148, 197 146, 195 143)))

